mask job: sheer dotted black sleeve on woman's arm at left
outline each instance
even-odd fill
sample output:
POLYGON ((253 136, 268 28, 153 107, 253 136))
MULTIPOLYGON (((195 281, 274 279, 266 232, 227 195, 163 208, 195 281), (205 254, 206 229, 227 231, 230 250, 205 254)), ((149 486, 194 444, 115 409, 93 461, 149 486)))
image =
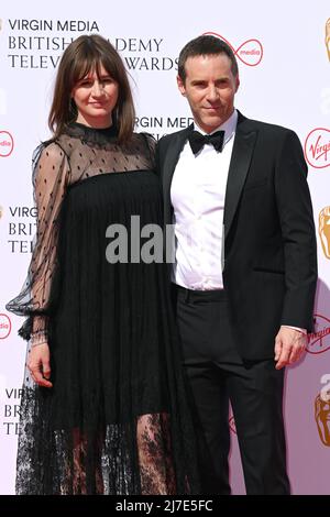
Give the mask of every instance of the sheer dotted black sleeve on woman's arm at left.
POLYGON ((56 266, 58 212, 69 183, 70 167, 63 148, 56 143, 40 145, 33 156, 34 201, 37 208, 37 231, 24 286, 7 308, 28 316, 19 333, 32 337, 32 344, 47 337, 50 293, 56 266))

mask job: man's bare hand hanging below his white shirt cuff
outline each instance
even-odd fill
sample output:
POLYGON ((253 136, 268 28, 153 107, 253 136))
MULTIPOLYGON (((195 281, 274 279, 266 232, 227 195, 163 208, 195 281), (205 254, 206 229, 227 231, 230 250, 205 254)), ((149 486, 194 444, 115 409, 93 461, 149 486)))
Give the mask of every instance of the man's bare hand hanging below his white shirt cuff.
POLYGON ((298 361, 306 345, 307 336, 304 332, 282 326, 275 338, 276 370, 298 361))

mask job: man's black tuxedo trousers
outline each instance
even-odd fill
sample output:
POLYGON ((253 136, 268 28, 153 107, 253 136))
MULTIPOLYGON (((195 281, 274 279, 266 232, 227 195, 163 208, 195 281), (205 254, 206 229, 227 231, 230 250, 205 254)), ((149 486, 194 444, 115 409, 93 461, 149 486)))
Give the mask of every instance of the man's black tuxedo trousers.
POLYGON ((246 494, 289 494, 283 422, 284 371, 273 359, 244 362, 235 349, 223 290, 174 287, 184 365, 200 431, 204 494, 230 495, 229 400, 246 494))

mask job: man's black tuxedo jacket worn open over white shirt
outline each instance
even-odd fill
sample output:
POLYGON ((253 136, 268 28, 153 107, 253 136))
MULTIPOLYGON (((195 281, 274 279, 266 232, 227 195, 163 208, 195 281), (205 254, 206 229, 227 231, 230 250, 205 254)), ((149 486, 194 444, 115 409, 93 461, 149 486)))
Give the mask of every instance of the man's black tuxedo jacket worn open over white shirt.
MULTIPOLYGON (((190 130, 163 136, 157 145, 166 224, 173 223, 173 173, 190 130)), ((314 328, 317 253, 306 177, 293 131, 239 113, 226 190, 222 274, 245 360, 274 358, 280 324, 314 328)))

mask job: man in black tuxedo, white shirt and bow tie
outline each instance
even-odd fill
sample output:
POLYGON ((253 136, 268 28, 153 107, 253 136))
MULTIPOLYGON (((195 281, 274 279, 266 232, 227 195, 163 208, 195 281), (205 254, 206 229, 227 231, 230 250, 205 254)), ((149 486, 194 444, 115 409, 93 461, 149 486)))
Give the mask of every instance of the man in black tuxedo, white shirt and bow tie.
POLYGON ((194 124, 157 148, 184 364, 204 436, 204 493, 230 494, 231 402, 248 494, 289 494, 284 366, 312 329, 316 238, 297 135, 234 109, 231 48, 199 36, 178 88, 194 124))

